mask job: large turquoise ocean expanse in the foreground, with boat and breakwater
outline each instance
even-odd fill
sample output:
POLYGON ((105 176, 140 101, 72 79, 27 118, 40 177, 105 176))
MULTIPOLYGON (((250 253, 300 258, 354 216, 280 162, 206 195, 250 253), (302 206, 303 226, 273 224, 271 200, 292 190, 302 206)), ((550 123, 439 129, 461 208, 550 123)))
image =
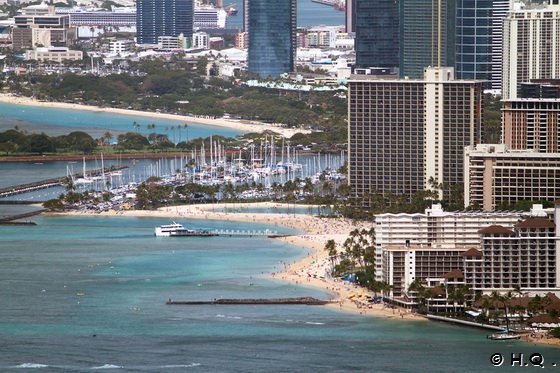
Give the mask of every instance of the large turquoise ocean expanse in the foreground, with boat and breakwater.
MULTIPOLYGON (((307 255, 266 238, 155 238, 156 218, 37 217, 0 226, 0 371, 490 372, 557 348, 487 331, 321 306, 170 306, 174 300, 314 296, 273 280, 307 255), (501 353, 497 369, 491 356, 501 353)), ((181 220, 193 228, 287 229, 181 220)), ((509 369, 517 369, 518 367, 509 369)))

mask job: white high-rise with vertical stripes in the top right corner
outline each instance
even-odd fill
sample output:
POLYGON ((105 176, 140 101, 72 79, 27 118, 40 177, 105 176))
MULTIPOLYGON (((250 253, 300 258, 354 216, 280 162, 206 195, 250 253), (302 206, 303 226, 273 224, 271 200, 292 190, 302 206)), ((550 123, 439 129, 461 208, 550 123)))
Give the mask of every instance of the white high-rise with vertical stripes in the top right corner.
POLYGON ((516 99, 522 83, 560 79, 560 5, 527 6, 504 19, 504 99, 516 99))

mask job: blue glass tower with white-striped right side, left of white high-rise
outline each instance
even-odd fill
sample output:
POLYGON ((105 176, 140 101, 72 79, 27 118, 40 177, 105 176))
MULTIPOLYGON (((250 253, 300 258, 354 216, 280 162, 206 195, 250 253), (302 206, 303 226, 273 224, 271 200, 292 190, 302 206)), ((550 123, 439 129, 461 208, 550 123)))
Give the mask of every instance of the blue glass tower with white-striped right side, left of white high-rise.
POLYGON ((509 10, 509 0, 457 0, 457 78, 502 88, 502 29, 509 10))

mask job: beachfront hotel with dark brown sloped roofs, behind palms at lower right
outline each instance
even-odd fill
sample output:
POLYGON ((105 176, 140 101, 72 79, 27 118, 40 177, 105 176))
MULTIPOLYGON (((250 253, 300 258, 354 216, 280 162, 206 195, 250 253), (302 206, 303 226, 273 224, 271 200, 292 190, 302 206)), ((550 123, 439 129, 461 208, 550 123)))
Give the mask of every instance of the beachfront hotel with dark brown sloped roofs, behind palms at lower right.
POLYGON ((506 224, 488 224, 493 214, 481 213, 489 219, 486 224, 483 219, 476 223, 478 242, 472 245, 449 240, 383 246, 382 280, 392 286, 388 297, 410 306, 415 296, 409 287, 415 280, 434 290, 441 290, 441 285, 465 285, 485 294, 517 287, 533 294, 560 291, 560 206, 545 210, 534 205, 530 213, 496 214, 495 220, 506 224))

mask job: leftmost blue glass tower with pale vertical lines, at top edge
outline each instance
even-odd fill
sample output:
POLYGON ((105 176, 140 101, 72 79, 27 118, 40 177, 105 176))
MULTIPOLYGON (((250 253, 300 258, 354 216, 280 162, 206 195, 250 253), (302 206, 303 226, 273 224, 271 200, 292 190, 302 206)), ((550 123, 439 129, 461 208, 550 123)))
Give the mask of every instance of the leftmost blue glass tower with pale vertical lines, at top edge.
POLYGON ((137 0, 136 41, 157 44, 159 36, 192 38, 193 0, 137 0))

